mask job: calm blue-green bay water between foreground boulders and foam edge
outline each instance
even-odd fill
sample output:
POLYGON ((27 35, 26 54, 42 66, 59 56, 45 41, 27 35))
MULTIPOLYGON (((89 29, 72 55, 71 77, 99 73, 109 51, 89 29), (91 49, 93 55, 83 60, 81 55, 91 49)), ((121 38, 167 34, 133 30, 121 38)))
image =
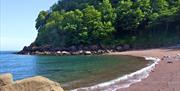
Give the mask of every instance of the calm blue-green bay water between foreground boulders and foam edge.
POLYGON ((34 56, 0 52, 0 74, 12 73, 14 80, 45 76, 65 89, 91 86, 134 72, 148 61, 132 56, 34 56))

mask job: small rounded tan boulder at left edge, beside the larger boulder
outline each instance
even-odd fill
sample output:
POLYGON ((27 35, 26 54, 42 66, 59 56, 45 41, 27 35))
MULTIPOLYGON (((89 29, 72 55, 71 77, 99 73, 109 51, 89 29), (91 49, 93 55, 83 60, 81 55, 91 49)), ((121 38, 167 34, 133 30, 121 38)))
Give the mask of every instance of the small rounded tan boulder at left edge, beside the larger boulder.
POLYGON ((12 83, 13 83, 12 74, 7 73, 7 74, 0 75, 0 87, 8 85, 8 84, 12 84, 12 83))

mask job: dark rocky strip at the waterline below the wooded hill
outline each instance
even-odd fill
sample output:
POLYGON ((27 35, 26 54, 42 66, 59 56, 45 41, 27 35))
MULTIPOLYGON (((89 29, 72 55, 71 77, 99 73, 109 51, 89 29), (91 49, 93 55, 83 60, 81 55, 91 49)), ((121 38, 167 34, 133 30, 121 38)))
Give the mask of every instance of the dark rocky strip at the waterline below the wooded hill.
POLYGON ((88 46, 70 46, 67 48, 55 48, 51 45, 36 46, 32 43, 28 47, 24 47, 18 54, 30 55, 97 55, 108 52, 120 52, 130 50, 129 45, 104 46, 104 45, 88 45, 88 46))

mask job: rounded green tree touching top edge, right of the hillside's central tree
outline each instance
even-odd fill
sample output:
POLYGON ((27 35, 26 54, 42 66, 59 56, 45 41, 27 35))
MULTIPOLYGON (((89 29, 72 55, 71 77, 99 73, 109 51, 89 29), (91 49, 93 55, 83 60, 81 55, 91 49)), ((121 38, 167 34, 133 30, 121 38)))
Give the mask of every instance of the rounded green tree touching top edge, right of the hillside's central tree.
POLYGON ((122 0, 119 2, 116 26, 120 31, 134 31, 142 22, 144 13, 140 7, 134 7, 133 5, 133 2, 130 0, 122 0))

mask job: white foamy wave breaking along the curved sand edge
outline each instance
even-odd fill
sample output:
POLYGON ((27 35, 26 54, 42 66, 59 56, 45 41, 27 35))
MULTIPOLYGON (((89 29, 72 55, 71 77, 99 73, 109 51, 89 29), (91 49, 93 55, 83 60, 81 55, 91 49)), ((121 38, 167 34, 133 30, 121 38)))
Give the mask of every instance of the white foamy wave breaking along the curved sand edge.
POLYGON ((155 57, 144 57, 145 60, 152 60, 153 63, 149 64, 147 67, 142 68, 136 72, 124 75, 117 79, 100 83, 90 87, 77 88, 71 91, 117 91, 121 88, 127 88, 130 85, 140 82, 149 76, 149 73, 155 68, 159 63, 160 59, 155 57))

